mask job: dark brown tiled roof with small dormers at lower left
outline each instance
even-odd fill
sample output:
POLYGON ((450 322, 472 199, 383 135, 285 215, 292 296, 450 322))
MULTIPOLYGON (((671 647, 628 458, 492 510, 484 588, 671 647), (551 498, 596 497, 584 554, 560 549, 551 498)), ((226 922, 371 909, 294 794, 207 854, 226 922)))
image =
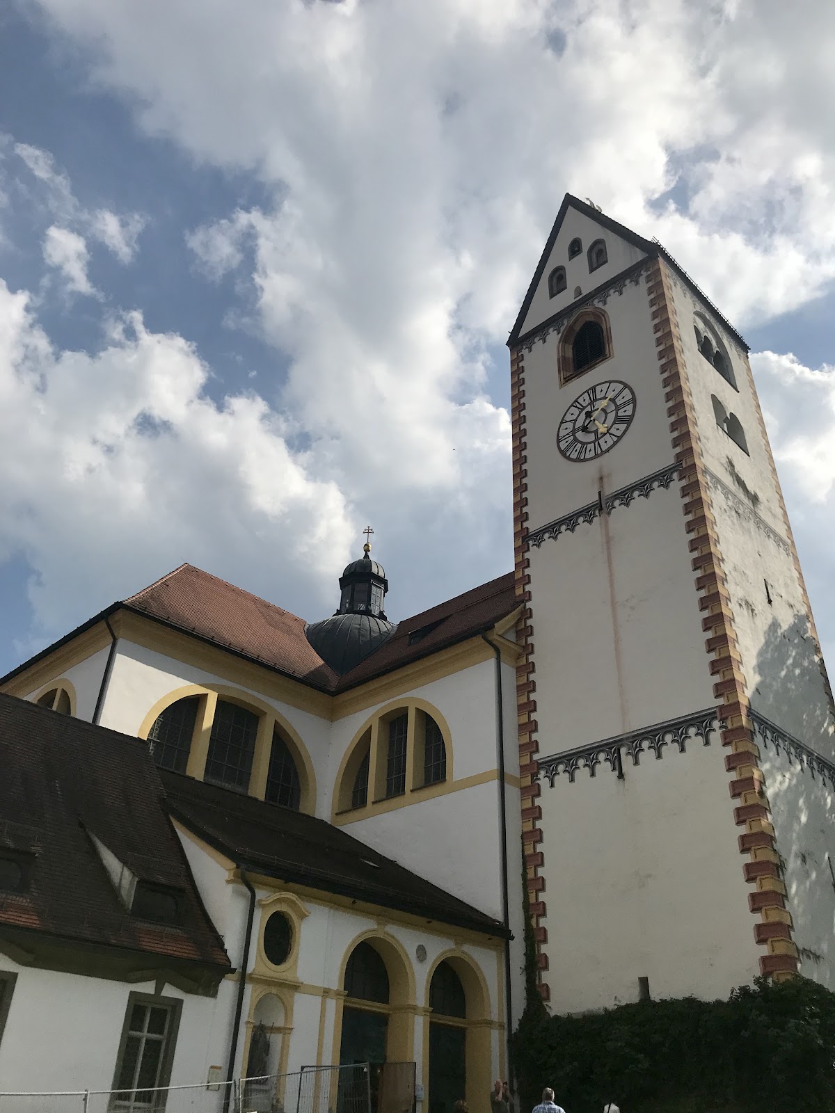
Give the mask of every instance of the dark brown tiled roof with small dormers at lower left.
POLYGON ((0 932, 232 968, 144 742, 0 693, 0 848, 35 855, 29 890, 0 893, 0 932), (91 836, 137 877, 180 890, 179 926, 127 912, 91 836))

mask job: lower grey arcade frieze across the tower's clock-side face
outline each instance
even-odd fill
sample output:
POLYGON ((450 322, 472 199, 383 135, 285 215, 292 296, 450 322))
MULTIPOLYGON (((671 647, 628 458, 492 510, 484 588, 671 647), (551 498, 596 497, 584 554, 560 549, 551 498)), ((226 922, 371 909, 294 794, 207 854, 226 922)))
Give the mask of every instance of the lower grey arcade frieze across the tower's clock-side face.
POLYGON ((540 758, 536 779, 541 781, 544 778, 553 788, 554 779, 560 774, 566 774, 573 784, 578 769, 587 769, 589 776, 593 777, 597 767, 603 761, 619 779, 622 779, 625 755, 631 759, 633 766, 637 766, 640 765, 641 754, 652 754, 656 760, 659 760, 664 756, 665 746, 676 746, 679 754, 685 754, 688 742, 698 740, 703 746, 709 746, 711 735, 718 729, 719 721, 715 707, 694 711, 678 719, 657 722, 627 735, 617 735, 615 738, 605 738, 599 742, 590 742, 587 746, 563 750, 562 754, 540 758))

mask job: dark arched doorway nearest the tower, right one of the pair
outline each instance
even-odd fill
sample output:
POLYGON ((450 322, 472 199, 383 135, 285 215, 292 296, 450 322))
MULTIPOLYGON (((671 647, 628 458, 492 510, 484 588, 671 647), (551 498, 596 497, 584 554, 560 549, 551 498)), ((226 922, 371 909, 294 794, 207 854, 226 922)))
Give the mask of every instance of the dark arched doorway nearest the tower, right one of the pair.
POLYGON ((429 1113, 452 1113, 466 1094, 466 994, 449 962, 429 987, 429 1113))

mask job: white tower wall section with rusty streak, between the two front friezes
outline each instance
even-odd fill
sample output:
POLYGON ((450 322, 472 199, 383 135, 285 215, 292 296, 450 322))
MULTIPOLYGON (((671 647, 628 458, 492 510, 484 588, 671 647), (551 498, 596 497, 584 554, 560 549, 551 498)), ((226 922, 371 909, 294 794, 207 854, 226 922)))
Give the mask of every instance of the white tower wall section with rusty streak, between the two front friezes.
POLYGON ((716 702, 678 484, 530 560, 540 756, 716 702))

